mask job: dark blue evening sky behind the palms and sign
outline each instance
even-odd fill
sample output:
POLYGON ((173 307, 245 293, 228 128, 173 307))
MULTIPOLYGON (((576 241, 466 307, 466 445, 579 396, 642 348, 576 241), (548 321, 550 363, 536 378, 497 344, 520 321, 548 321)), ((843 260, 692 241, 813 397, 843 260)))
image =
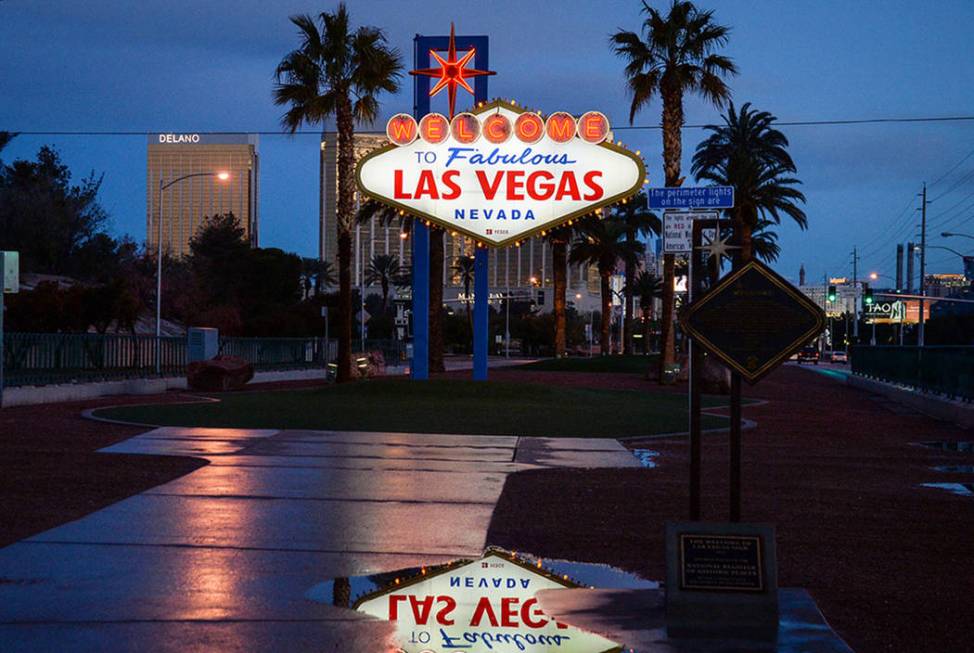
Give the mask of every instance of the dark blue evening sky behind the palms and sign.
MULTIPOLYGON (((661 2, 656 3, 658 6, 661 2)), ((0 0, 0 129, 19 131, 276 131, 272 73, 296 43, 287 17, 333 2, 280 0, 0 0)), ((491 38, 492 96, 543 111, 599 109, 617 126, 628 116, 622 64, 609 50, 617 28, 638 29, 634 1, 354 1, 356 23, 383 27, 411 52, 416 33, 491 38)), ((974 114, 974 2, 702 2, 733 28, 726 53, 741 74, 738 103, 781 120, 974 114)), ((407 61, 407 66, 410 61, 407 61)), ((411 89, 407 84, 406 89, 411 89)), ((383 98, 384 115, 411 108, 411 91, 383 98)), ((659 103, 637 116, 659 122, 659 103)), ((689 124, 717 120, 696 99, 689 124)), ((380 125, 381 127, 381 125, 380 125)), ((782 225, 777 268, 796 279, 848 274, 853 245, 862 270, 893 274, 896 242, 912 239, 914 198, 974 151, 974 122, 794 126, 783 131, 805 182, 809 229, 782 225)), ((684 132, 684 169, 703 132, 684 132)), ((619 131, 662 179, 656 130, 619 131)), ((102 201, 117 233, 145 237, 143 136, 22 136, 8 160, 55 145, 72 170, 105 173, 102 201)), ((311 136, 261 137, 261 241, 302 255, 317 243, 318 144, 311 136)), ((933 244, 945 229, 974 232, 974 156, 934 184, 933 244)), ((689 180, 688 180, 689 183, 689 180)), ((960 271, 931 250, 932 271, 960 271)))

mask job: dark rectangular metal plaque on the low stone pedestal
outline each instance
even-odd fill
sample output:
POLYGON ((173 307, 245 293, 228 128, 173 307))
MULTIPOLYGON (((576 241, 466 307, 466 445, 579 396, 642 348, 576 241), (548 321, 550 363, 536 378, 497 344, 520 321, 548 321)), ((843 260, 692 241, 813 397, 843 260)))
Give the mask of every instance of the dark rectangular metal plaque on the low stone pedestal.
POLYGON ((680 589, 724 592, 764 591, 761 538, 680 534, 680 589))

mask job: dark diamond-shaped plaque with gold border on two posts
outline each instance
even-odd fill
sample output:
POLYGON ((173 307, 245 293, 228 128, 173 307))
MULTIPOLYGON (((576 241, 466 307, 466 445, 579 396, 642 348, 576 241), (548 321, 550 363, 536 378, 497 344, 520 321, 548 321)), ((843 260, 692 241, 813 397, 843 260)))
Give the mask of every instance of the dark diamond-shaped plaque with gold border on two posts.
POLYGON ((825 313, 750 261, 690 304, 681 323, 694 342, 753 384, 818 336, 825 313))

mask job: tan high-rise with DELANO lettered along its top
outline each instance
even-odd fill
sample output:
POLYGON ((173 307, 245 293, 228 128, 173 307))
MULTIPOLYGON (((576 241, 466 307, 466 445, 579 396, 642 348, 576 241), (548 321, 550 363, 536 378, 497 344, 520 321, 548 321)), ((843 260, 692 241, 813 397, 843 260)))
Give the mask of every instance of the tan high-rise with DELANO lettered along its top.
POLYGON ((249 134, 150 134, 146 184, 146 242, 157 246, 160 180, 228 172, 230 178, 190 177, 163 191, 162 246, 173 256, 189 253, 189 241, 206 218, 232 212, 251 246, 258 243, 260 159, 249 134))

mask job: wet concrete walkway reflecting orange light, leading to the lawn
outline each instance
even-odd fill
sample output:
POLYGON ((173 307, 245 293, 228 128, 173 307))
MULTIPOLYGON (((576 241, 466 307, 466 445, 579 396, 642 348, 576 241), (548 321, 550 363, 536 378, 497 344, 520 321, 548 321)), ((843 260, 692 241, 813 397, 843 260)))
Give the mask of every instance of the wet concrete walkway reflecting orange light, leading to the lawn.
POLYGON ((0 549, 0 650, 385 651, 323 580, 480 555, 507 474, 634 467, 614 440, 160 428, 210 465, 0 549))

